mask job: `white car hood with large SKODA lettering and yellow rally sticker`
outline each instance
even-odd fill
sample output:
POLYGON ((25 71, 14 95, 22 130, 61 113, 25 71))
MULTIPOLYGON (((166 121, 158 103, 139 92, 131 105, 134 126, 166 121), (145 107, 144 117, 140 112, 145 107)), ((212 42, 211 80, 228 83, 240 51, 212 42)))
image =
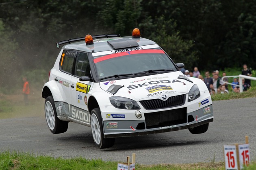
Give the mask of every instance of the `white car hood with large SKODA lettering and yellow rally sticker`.
POLYGON ((104 91, 135 101, 187 94, 193 85, 180 71, 100 82, 104 91))

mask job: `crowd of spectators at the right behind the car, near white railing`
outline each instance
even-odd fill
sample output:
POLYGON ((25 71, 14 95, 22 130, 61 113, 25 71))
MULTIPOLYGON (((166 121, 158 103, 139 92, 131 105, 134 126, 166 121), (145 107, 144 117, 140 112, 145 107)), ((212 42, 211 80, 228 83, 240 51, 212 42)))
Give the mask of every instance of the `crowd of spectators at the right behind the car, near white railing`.
MULTIPOLYGON (((222 73, 222 77, 224 77, 223 79, 219 75, 219 70, 214 70, 212 72, 212 77, 210 76, 210 72, 208 70, 204 74, 205 77, 203 77, 203 75, 200 74, 200 71, 198 70, 197 67, 194 68, 193 72, 184 69, 183 73, 187 77, 196 77, 204 81, 211 95, 217 94, 217 93, 228 94, 230 93, 230 91, 234 91, 236 93, 240 92, 239 79, 237 77, 234 77, 231 85, 231 89, 228 89, 228 84, 226 83, 228 82, 228 78, 225 77, 226 72, 222 73)), ((246 64, 243 65, 243 70, 241 74, 246 76, 252 76, 252 72, 251 70, 249 70, 249 68, 247 68, 246 64)), ((243 83, 243 91, 246 91, 247 89, 251 88, 251 80, 242 78, 242 83, 243 83)))

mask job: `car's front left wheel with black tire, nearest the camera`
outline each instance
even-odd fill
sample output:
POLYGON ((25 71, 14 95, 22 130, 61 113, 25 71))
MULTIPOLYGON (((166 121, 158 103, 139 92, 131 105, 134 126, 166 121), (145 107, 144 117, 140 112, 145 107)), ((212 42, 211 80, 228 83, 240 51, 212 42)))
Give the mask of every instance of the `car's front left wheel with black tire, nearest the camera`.
POLYGON ((115 138, 104 138, 100 108, 91 110, 91 132, 95 144, 100 149, 109 148, 114 145, 115 138))

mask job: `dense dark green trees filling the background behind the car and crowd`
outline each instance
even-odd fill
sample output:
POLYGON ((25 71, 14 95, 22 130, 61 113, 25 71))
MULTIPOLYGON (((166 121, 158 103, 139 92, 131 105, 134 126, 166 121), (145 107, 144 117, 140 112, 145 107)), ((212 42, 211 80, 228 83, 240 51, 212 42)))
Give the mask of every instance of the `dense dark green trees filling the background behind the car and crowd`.
POLYGON ((256 0, 2 0, 0 8, 1 80, 50 70, 57 41, 136 27, 189 70, 256 65, 256 0))

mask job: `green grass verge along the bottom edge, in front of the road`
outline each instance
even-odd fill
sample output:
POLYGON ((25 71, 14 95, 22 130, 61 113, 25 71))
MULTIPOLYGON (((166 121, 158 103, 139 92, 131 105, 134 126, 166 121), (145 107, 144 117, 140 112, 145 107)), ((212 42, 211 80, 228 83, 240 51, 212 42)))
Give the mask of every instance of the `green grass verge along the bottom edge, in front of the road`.
MULTIPOLYGON (((125 158, 124 158, 125 159, 125 158)), ((223 169, 221 163, 197 163, 197 164, 161 164, 140 165, 136 164, 137 170, 178 170, 178 169, 223 169)), ((64 159, 50 156, 34 155, 25 152, 4 151, 0 153, 1 170, 116 170, 117 162, 102 161, 101 159, 85 159, 82 157, 64 159)))

